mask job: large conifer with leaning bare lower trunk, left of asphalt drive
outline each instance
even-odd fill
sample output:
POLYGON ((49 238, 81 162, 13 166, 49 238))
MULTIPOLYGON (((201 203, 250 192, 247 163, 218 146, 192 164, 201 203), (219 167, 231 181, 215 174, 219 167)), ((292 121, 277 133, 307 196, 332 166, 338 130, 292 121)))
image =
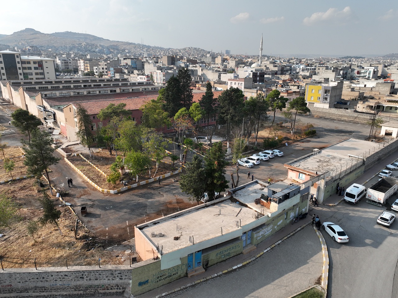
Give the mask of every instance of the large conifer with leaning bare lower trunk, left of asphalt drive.
POLYGON ((27 166, 28 173, 35 175, 37 178, 45 172, 52 195, 53 190, 51 189, 51 180, 48 168, 49 166, 56 164, 60 159, 53 155, 55 149, 51 147, 53 140, 48 132, 36 129, 33 130, 31 134, 31 142, 23 142, 25 145, 23 148, 26 152, 23 164, 27 166))

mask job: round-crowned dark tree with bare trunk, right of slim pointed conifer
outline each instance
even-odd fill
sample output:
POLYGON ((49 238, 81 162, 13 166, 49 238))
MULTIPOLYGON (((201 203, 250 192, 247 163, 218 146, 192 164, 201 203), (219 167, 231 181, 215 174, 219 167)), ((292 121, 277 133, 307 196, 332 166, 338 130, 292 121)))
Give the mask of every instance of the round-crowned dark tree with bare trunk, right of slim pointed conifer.
POLYGON ((238 88, 229 88, 221 93, 218 101, 219 122, 226 125, 226 141, 229 148, 232 127, 240 124, 243 119, 244 95, 238 88))

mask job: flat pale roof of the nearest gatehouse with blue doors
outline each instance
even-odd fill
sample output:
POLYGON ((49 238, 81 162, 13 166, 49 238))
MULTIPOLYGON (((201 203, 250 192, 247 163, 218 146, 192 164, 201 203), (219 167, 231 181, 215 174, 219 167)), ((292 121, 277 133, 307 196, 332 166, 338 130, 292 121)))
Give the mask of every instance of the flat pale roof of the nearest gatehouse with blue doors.
POLYGON ((257 212, 251 208, 226 199, 215 205, 194 209, 156 224, 148 223, 141 232, 154 246, 163 245, 163 253, 170 253, 192 245, 189 242, 190 236, 193 236, 194 242, 198 243, 221 236, 221 228, 223 234, 238 230, 239 224, 243 226, 254 222, 255 214, 257 212), (237 225, 239 221, 241 223, 237 225), (152 233, 155 233, 156 237, 151 237, 152 233), (159 233, 163 233, 164 236, 159 237, 159 233), (176 236, 180 237, 179 240, 174 240, 176 236))

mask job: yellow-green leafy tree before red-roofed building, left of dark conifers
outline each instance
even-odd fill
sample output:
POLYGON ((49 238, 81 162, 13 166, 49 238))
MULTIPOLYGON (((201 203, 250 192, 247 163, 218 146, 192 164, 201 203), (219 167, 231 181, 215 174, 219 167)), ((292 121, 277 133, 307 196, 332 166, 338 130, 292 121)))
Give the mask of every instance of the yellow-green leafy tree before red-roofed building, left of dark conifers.
MULTIPOLYGON (((164 90, 164 89, 162 89, 164 90)), ((162 109, 159 101, 151 100, 142 107, 142 125, 161 130, 166 124, 170 123, 169 114, 162 109)))

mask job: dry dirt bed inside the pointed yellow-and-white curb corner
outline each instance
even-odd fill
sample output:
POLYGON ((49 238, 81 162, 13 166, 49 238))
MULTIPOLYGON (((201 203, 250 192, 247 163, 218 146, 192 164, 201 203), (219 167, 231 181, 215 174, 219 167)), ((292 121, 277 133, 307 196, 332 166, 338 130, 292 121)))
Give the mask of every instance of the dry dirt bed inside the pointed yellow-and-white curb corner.
MULTIPOLYGON (((82 154, 83 155, 83 154, 82 154)), ((96 167, 101 169, 106 175, 111 174, 111 164, 115 162, 115 155, 110 156, 107 151, 100 151, 95 154, 94 160, 90 158, 90 156, 85 156, 83 155, 87 160, 90 160, 92 164, 94 164, 96 167)), ((111 183, 108 183, 106 181, 106 177, 100 173, 96 168, 91 166, 88 162, 86 162, 84 159, 82 159, 80 156, 70 156, 68 157, 68 160, 74 164, 76 168, 78 168, 80 171, 84 173, 91 181, 96 183, 99 187, 103 189, 117 189, 121 187, 121 183, 116 184, 113 186, 111 183)), ((154 172, 156 170, 156 162, 152 161, 152 166, 151 166, 151 176, 153 176, 154 172)), ((170 171, 175 171, 176 168, 172 167, 171 164, 167 164, 164 162, 161 162, 159 164, 158 171, 156 172, 156 176, 164 175, 166 173, 169 173, 170 171)), ((149 171, 142 173, 139 175, 138 181, 145 181, 147 179, 150 179, 149 171)), ((129 181, 129 184, 134 184, 135 183, 135 178, 132 178, 130 175, 125 174, 122 176, 121 180, 126 179, 129 181)))

